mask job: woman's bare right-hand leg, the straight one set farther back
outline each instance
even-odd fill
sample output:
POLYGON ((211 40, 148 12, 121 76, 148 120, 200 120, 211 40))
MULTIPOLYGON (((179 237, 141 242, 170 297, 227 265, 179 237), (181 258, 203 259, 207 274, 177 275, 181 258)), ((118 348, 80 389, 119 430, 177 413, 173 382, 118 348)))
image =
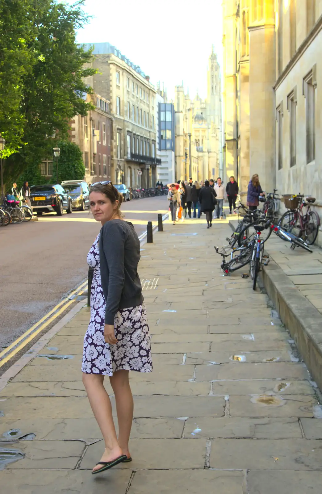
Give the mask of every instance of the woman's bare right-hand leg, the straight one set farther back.
POLYGON ((116 410, 119 422, 119 444, 123 454, 129 458, 128 440, 133 420, 133 396, 128 382, 128 371, 116 371, 110 377, 115 394, 116 410))

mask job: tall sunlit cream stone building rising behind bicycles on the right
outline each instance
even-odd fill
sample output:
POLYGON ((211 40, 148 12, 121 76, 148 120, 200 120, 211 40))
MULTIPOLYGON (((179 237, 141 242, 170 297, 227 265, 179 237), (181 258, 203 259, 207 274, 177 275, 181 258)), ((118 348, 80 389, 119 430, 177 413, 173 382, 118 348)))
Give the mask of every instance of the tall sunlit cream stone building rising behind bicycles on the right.
POLYGON ((322 0, 224 0, 223 50, 226 176, 312 195, 321 216, 322 0))

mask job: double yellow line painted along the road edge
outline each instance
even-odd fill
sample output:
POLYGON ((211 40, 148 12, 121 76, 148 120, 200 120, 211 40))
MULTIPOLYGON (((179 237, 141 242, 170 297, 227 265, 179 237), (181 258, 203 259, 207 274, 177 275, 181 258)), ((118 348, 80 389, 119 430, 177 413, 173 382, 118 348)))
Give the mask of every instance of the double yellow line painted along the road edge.
POLYGON ((2 352, 0 352, 0 367, 2 367, 4 364, 6 364, 6 362, 12 359, 12 357, 14 357, 18 352, 20 352, 22 348, 28 345, 28 343, 32 341, 37 336, 37 334, 39 334, 43 329, 45 329, 52 321, 57 319, 57 317, 60 316, 60 314, 62 314, 64 310, 67 309, 67 307, 69 307, 73 302, 75 302, 75 296, 82 295, 82 293, 84 293, 83 288, 85 288, 86 285, 87 285, 87 281, 85 281, 78 288, 73 290, 68 297, 64 298, 53 309, 47 312, 47 314, 43 316, 38 321, 38 323, 34 324, 34 326, 32 326, 24 334, 19 336, 19 338, 13 341, 11 345, 9 345, 7 348, 2 350, 2 352))

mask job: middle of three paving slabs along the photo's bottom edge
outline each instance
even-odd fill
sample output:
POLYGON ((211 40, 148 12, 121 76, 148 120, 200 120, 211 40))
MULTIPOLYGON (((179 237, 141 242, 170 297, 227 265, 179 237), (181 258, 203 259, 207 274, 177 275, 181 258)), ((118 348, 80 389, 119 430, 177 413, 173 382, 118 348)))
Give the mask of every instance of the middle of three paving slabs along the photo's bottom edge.
POLYGON ((135 473, 128 494, 243 494, 243 473, 213 470, 143 470, 135 473))

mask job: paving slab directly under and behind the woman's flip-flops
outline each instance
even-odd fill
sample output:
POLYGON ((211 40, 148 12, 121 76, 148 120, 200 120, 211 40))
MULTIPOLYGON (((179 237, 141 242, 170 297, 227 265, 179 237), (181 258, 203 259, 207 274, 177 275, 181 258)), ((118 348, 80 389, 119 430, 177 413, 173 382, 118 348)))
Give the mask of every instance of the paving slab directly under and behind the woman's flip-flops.
MULTIPOLYGON (((194 469, 204 468, 206 441, 176 439, 133 439, 129 448, 135 452, 131 463, 120 463, 116 469, 194 469)), ((104 451, 104 442, 88 447, 80 469, 92 469, 104 451)))

